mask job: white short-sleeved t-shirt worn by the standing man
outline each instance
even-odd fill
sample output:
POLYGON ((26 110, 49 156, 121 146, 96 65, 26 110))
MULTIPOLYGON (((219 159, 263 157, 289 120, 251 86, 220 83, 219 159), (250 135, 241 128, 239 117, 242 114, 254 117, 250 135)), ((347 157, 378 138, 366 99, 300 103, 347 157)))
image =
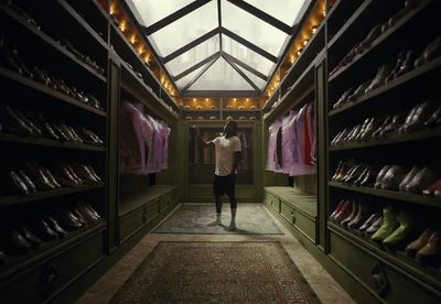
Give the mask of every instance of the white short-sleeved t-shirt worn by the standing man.
POLYGON ((232 173, 234 152, 241 152, 240 140, 237 137, 228 139, 223 137, 212 140, 216 149, 216 169, 214 174, 217 176, 227 176, 232 173))

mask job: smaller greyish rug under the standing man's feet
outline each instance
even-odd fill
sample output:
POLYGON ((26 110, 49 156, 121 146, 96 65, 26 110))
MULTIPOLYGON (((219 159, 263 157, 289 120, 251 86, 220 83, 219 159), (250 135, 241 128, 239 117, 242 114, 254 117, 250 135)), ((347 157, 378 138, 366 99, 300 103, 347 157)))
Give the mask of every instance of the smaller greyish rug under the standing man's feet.
POLYGON ((228 230, 229 204, 224 204, 222 226, 207 226, 216 218, 214 204, 182 204, 154 234, 194 234, 194 235, 283 235, 261 204, 238 204, 236 230, 228 230))

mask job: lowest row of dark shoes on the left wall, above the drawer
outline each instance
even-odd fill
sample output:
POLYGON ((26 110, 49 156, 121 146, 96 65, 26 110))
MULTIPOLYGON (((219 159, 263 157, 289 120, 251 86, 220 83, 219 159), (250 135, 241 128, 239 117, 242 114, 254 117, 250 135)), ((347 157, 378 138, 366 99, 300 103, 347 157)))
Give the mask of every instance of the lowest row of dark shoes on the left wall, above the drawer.
POLYGON ((44 242, 64 238, 73 231, 98 222, 101 216, 85 202, 78 202, 56 215, 41 215, 32 222, 17 227, 3 227, 0 232, 0 264, 9 256, 25 254, 32 249, 40 249, 44 242))

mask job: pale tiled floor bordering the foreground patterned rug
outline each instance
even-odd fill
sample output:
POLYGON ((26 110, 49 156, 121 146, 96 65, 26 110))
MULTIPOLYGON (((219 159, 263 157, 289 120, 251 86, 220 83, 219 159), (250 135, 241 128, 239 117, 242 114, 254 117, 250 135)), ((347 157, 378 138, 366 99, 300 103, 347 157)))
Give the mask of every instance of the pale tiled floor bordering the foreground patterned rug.
MULTIPOLYGON (((240 206, 238 213, 240 211, 240 206)), ((271 217, 273 217, 271 215, 271 217)), ((275 217, 273 217, 275 218, 275 217)), ((223 221, 229 222, 229 215, 224 215, 223 221)), ((153 250, 159 241, 280 241, 291 259, 295 262, 304 278, 323 303, 354 303, 345 291, 315 261, 315 259, 299 243, 299 241, 277 219, 275 221, 284 235, 147 235, 118 263, 101 276, 77 304, 108 303, 133 270, 153 250)))

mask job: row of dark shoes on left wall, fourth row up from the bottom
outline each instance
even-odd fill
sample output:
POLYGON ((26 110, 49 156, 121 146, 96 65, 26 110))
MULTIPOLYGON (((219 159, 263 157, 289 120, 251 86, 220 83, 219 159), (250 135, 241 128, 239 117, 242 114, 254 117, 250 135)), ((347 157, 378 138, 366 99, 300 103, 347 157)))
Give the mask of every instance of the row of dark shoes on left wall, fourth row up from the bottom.
POLYGON ((47 73, 39 66, 30 68, 31 65, 25 64, 22 58, 20 58, 15 46, 12 47, 12 50, 6 47, 4 36, 2 35, 0 36, 0 64, 6 68, 19 73, 23 77, 39 82, 51 89, 57 90, 98 110, 104 110, 101 102, 92 94, 85 94, 75 86, 67 85, 63 79, 47 73))

